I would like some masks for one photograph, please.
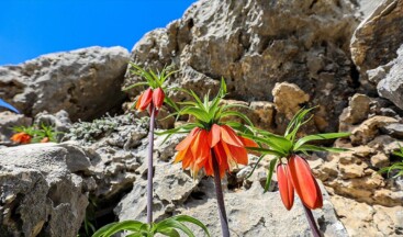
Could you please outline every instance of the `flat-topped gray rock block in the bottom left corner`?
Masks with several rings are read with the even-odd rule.
[[[0,149],[0,236],[76,237],[89,185],[77,172],[91,165],[71,144]]]

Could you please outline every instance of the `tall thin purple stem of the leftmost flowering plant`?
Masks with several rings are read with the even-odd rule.
[[[147,169],[147,223],[153,223],[153,149],[154,149],[154,124],[155,124],[155,108],[149,104],[152,111],[149,119],[149,134],[148,134],[148,169]]]

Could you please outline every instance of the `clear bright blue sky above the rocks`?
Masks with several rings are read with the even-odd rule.
[[[195,0],[0,0],[0,65],[94,45],[132,49]]]

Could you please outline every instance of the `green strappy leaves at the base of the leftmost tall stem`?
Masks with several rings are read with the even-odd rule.
[[[178,230],[183,232],[189,237],[195,237],[192,230],[183,223],[191,223],[201,227],[210,237],[208,228],[200,221],[187,216],[177,215],[159,223],[145,224],[137,221],[123,221],[119,223],[111,223],[100,228],[92,237],[109,237],[120,232],[128,232],[126,237],[154,237],[156,234],[161,234],[169,237],[180,237]]]

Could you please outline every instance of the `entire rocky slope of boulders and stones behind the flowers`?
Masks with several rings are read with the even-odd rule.
[[[403,179],[377,172],[398,161],[392,153],[403,145],[402,25],[402,0],[200,0],[131,54],[91,47],[0,67],[0,98],[24,114],[0,112],[0,236],[72,237],[85,218],[145,219],[148,121],[130,109],[138,91],[121,91],[139,80],[128,60],[175,64],[170,82],[200,94],[224,77],[225,103],[246,105],[240,112],[275,133],[302,106],[318,105],[304,133],[351,132],[333,144],[349,151],[309,157],[325,193],[314,212],[321,230],[403,235]],[[33,122],[53,124],[64,142],[13,147],[10,127]],[[155,217],[197,216],[220,236],[212,180],[172,165],[181,138],[155,139]],[[245,180],[257,158],[249,160],[223,183],[233,235],[309,236],[299,201],[287,212],[276,182],[262,192],[267,162]]]

